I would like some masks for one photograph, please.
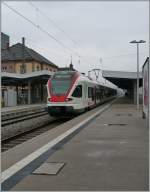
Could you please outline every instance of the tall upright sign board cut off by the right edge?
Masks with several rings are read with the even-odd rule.
[[[148,118],[149,109],[149,59],[143,65],[143,118]]]

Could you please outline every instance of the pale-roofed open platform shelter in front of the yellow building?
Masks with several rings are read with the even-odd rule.
[[[46,84],[52,75],[53,72],[48,70],[27,74],[2,72],[2,107],[46,102]]]

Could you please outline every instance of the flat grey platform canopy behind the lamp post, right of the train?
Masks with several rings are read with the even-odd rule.
[[[126,71],[108,71],[104,70],[102,72],[104,78],[114,83],[121,89],[132,89],[133,84],[137,80],[136,72],[126,72]],[[139,73],[139,82],[142,86],[142,72]]]

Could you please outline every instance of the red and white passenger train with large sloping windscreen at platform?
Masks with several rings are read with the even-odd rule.
[[[117,94],[117,90],[77,72],[58,71],[47,82],[47,107],[51,116],[82,113]]]

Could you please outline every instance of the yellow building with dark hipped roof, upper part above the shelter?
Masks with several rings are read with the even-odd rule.
[[[6,35],[7,36],[7,35]],[[3,47],[1,52],[1,71],[9,73],[31,73],[40,70],[57,71],[58,66],[25,46],[24,38],[22,43],[9,46],[9,41],[5,35],[2,36]],[[4,43],[5,42],[5,43]],[[7,44],[7,46],[6,46]]]

